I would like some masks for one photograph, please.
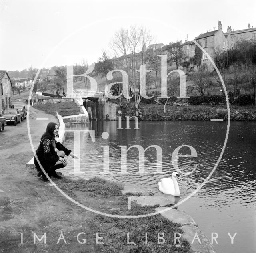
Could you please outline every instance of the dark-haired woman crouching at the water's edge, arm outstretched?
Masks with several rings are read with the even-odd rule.
[[[46,132],[42,135],[38,149],[36,150],[36,156],[44,168],[45,172],[49,177],[61,178],[55,170],[64,168],[67,165],[67,160],[64,158],[65,155],[75,157],[71,150],[65,148],[60,142],[55,140],[58,137],[59,126],[54,122],[48,123]],[[59,151],[55,151],[57,148]],[[44,181],[47,181],[47,177],[42,172],[40,165],[34,157],[34,164],[38,171],[38,177],[42,176]]]

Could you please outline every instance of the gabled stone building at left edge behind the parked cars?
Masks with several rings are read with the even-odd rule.
[[[11,107],[12,81],[6,70],[0,70],[0,112]]]

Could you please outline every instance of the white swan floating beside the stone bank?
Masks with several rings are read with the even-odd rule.
[[[161,182],[158,183],[160,192],[171,194],[173,196],[180,196],[180,188],[177,182],[177,177],[179,176],[178,172],[173,172],[172,178],[163,178]]]

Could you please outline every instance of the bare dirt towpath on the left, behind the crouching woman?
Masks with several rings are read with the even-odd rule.
[[[36,118],[48,118],[41,120]],[[30,130],[35,149],[48,122],[56,117],[30,107]],[[27,122],[8,125],[0,133],[0,252],[97,252],[92,213],[62,196],[48,182],[25,165],[34,156],[28,138]],[[54,179],[58,184],[58,180]],[[86,244],[77,241],[86,233]],[[34,244],[34,233],[44,239]],[[63,233],[63,239],[58,239]],[[23,238],[22,238],[23,237]],[[81,239],[82,241],[82,236]]]

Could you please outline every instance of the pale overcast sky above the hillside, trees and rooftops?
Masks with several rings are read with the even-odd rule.
[[[152,43],[192,40],[208,30],[256,26],[256,1],[0,0],[0,69],[96,62],[120,28],[145,26]],[[215,27],[215,29],[214,29]]]

